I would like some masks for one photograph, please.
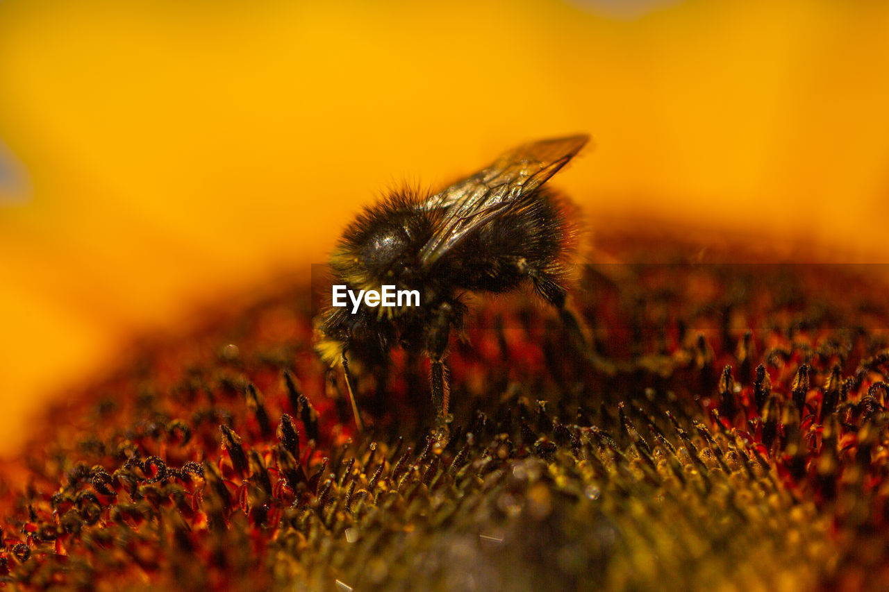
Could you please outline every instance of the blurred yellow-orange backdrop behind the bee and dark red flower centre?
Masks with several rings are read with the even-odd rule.
[[[555,181],[885,258],[889,4],[0,2],[0,452],[403,180],[590,132]],[[301,267],[300,267],[301,266]]]

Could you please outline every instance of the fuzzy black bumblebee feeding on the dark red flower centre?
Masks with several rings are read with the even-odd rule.
[[[347,226],[330,258],[340,287],[420,292],[419,306],[377,307],[365,300],[316,316],[316,351],[332,367],[342,365],[359,430],[349,359],[384,372],[389,351],[401,347],[428,356],[437,428],[446,431],[445,359],[450,336],[463,330],[467,292],[531,284],[556,308],[573,340],[587,347],[565,289],[575,235],[570,203],[543,184],[588,141],[576,135],[525,144],[435,195],[395,192]]]

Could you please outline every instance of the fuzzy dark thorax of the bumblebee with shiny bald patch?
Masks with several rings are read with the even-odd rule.
[[[420,280],[419,254],[435,223],[416,193],[400,192],[358,215],[333,252],[333,271],[348,284],[379,290],[381,284],[407,287]]]

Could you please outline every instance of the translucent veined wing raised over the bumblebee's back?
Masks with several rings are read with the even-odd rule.
[[[426,207],[445,213],[435,235],[420,251],[423,265],[430,267],[477,228],[520,204],[523,196],[549,180],[588,141],[589,136],[578,135],[525,144],[430,197]]]

